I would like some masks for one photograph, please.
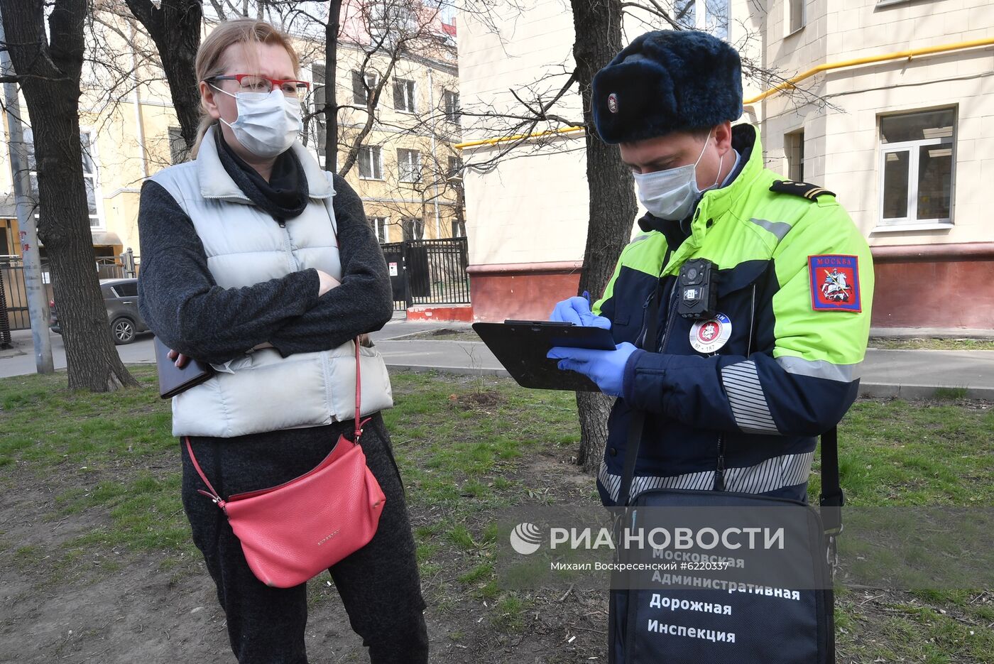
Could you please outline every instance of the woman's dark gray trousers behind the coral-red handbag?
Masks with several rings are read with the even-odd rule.
[[[323,459],[352,421],[252,433],[235,438],[190,436],[194,454],[218,493],[228,496],[281,484]],[[351,437],[351,436],[349,436]],[[183,507],[193,541],[204,554],[228,618],[240,664],[305,664],[306,584],[269,587],[255,579],[242,545],[224,513],[197,489],[206,489],[184,438]],[[329,569],[373,664],[427,662],[428,641],[414,558],[414,538],[390,436],[377,414],[360,444],[387,497],[380,525],[368,545]],[[191,653],[192,654],[192,653]]]

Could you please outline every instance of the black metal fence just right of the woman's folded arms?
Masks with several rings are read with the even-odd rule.
[[[414,240],[380,247],[390,268],[395,311],[414,304],[469,303],[465,238]]]

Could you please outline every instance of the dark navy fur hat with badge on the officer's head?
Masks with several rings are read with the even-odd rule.
[[[591,103],[605,143],[735,121],[743,114],[739,53],[696,30],[645,33],[593,77]]]

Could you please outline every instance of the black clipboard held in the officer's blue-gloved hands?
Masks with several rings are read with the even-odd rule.
[[[506,320],[503,323],[473,323],[473,330],[523,388],[600,392],[590,379],[575,371],[563,371],[558,360],[546,357],[554,346],[614,350],[610,330],[550,320]]]

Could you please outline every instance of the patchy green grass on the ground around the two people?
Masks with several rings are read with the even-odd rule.
[[[130,369],[142,387],[104,395],[66,390],[64,372],[0,380],[0,488],[39,486],[53,496],[44,518],[91,524],[54,551],[4,540],[0,564],[80,581],[94,568],[120,574],[128,555],[154,553],[164,570],[199,560],[179,499],[169,403],[157,397],[154,367]],[[574,396],[489,378],[392,379],[397,407],[384,416],[416,517],[427,601],[451,615],[459,610],[454,596],[469,595],[492,608],[490,628],[524,630],[532,599],[503,589],[495,575],[493,516],[522,502],[563,500],[554,479],[525,468],[537,455],[576,453]],[[994,409],[957,401],[954,391],[945,396],[951,401],[854,405],[839,428],[850,505],[994,506]],[[589,485],[592,493],[592,478]],[[815,474],[812,497],[817,485]],[[312,603],[334,595],[313,585]],[[874,598],[843,589],[836,615],[847,661],[989,662],[994,652],[989,592]]]

